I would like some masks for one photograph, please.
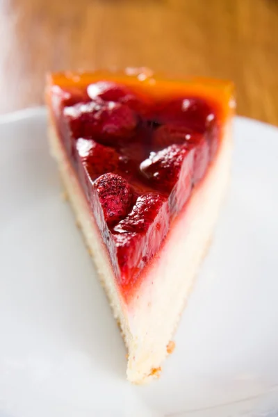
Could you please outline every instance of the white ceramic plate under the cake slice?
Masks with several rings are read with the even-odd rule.
[[[125,349],[43,108],[0,119],[1,417],[278,415],[278,129],[238,117],[231,188],[160,380]],[[2,414],[1,414],[2,413]]]

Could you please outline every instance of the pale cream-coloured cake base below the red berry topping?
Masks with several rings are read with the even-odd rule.
[[[218,155],[204,181],[194,190],[186,209],[172,224],[162,250],[148,268],[138,293],[128,304],[117,289],[106,248],[55,129],[51,128],[49,136],[51,153],[58,162],[76,221],[122,329],[129,352],[127,378],[137,384],[149,382],[159,375],[161,363],[167,356],[167,345],[213,234],[229,180],[230,126],[227,125]]]

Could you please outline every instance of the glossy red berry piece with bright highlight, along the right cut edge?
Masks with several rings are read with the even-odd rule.
[[[189,158],[193,163],[193,155],[184,145],[170,145],[159,152],[151,152],[149,158],[140,164],[140,170],[156,188],[171,193],[179,179],[183,161]]]

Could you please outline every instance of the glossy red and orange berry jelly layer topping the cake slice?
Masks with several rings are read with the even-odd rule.
[[[217,152],[221,109],[101,79],[51,85],[51,107],[124,296]]]

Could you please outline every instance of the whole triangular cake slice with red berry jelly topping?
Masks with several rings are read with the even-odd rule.
[[[149,70],[51,74],[49,138],[129,352],[157,377],[213,234],[231,163],[231,83]]]

